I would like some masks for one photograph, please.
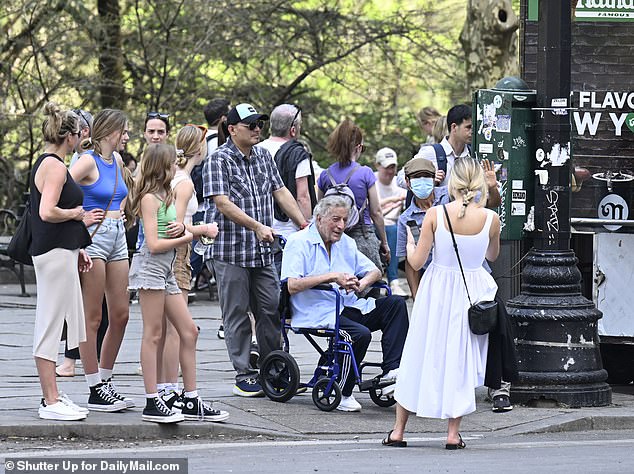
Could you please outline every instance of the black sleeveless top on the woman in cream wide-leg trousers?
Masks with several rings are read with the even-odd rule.
[[[82,221],[69,220],[64,222],[44,222],[40,218],[40,201],[42,194],[35,186],[35,173],[47,157],[64,162],[59,156],[52,153],[41,155],[31,171],[31,233],[32,241],[29,253],[33,256],[42,255],[49,250],[62,248],[75,250],[85,248],[91,244],[90,235]],[[75,183],[72,176],[66,171],[66,182],[62,187],[57,206],[62,209],[73,209],[81,206],[84,201],[84,193]]]

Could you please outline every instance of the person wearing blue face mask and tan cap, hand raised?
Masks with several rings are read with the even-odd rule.
[[[414,229],[412,230],[415,234],[416,230],[420,229],[429,208],[449,202],[447,187],[434,187],[436,168],[431,161],[414,158],[405,163],[404,173],[405,184],[414,194],[414,198],[409,207],[398,218],[396,235],[397,257],[407,257],[407,226],[413,227]],[[405,277],[413,298],[416,297],[421,276],[430,261],[431,254],[428,261],[423,265],[422,270],[416,271],[407,262],[407,259],[405,260]]]

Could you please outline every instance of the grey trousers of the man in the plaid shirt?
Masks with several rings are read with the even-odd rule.
[[[278,313],[280,282],[273,265],[244,268],[215,259],[213,267],[225,328],[225,344],[229,359],[237,372],[236,382],[241,382],[258,374],[249,364],[249,308],[255,317],[260,360],[271,351],[281,348]]]

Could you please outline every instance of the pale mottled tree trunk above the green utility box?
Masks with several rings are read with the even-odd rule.
[[[519,20],[511,0],[469,0],[460,43],[465,53],[467,87],[493,87],[505,76],[519,74]]]

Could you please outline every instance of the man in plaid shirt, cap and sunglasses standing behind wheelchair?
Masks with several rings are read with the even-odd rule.
[[[219,229],[205,258],[213,260],[225,343],[237,372],[233,393],[244,397],[264,394],[258,372],[249,364],[249,308],[255,315],[260,357],[280,348],[280,287],[271,249],[273,199],[299,227],[308,225],[270,153],[255,146],[268,118],[250,104],[231,109],[223,124],[227,142],[203,168],[205,222],[217,222]]]

